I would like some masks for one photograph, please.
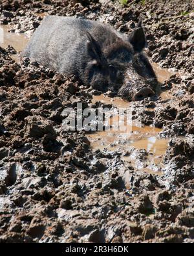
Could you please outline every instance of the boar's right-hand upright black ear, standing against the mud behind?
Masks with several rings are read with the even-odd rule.
[[[135,30],[129,35],[129,42],[133,45],[135,51],[142,51],[146,47],[146,35],[142,28],[142,21],[138,22]]]

